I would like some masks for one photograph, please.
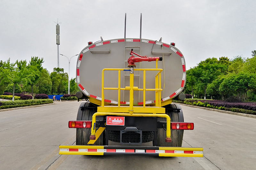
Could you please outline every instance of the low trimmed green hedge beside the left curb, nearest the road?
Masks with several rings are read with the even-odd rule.
[[[53,103],[52,99],[35,99],[35,100],[17,100],[17,101],[3,101],[3,106],[0,109],[14,108],[14,107],[24,107],[33,105],[42,105]]]

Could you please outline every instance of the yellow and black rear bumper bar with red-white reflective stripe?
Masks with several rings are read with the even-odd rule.
[[[60,155],[148,155],[166,157],[203,157],[203,148],[158,146],[60,145]]]

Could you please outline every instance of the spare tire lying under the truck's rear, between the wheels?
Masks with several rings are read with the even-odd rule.
[[[150,142],[154,138],[153,131],[142,131],[142,143]],[[108,140],[113,142],[120,142],[120,131],[108,131]],[[122,135],[122,142],[124,143],[139,143],[140,134],[135,132],[127,132]]]

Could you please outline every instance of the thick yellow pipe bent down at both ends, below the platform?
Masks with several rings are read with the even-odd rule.
[[[96,112],[92,115],[92,131],[91,136],[95,136],[94,124],[96,124],[96,116],[129,116],[129,117],[164,117],[166,118],[166,138],[171,139],[171,119],[166,114],[149,114],[149,113],[107,113],[107,112]]]

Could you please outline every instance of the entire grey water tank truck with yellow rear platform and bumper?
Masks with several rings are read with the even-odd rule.
[[[156,155],[203,157],[203,148],[181,147],[184,122],[179,104],[186,83],[183,54],[175,43],[141,38],[88,42],[77,58],[76,93],[82,102],[76,121],[76,145],[60,145],[60,154]],[[145,146],[147,143],[148,146]]]

